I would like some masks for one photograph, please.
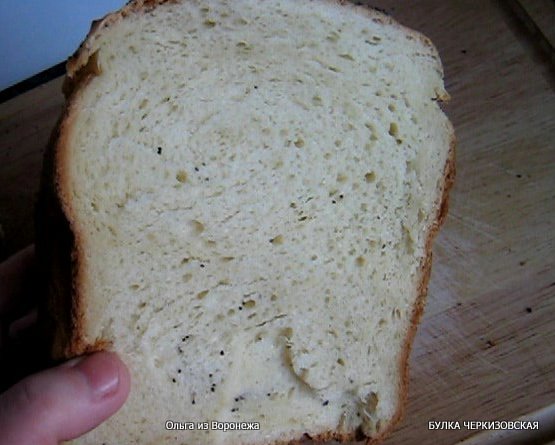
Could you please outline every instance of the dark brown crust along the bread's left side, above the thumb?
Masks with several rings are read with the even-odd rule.
[[[60,166],[67,139],[67,127],[72,125],[73,100],[69,98],[48,144],[43,164],[41,190],[37,203],[37,257],[48,299],[42,302],[41,323],[49,339],[55,360],[65,359],[103,349],[107,343],[87,344],[82,335],[83,314],[79,297],[78,264],[80,242],[78,232],[71,226],[64,201],[68,202],[60,183]]]

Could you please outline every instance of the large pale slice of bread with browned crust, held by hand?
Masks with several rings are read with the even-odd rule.
[[[133,385],[76,443],[392,429],[454,174],[442,76],[427,38],[346,2],[144,0],[94,24],[39,250],[55,356],[117,351]]]

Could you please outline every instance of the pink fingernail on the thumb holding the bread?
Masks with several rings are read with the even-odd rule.
[[[83,373],[96,400],[109,397],[117,391],[119,366],[112,353],[99,352],[90,355],[77,361],[72,367]]]

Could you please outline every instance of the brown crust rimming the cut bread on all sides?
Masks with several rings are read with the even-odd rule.
[[[108,28],[116,26],[130,14],[146,14],[166,3],[180,3],[177,0],[134,0],[120,11],[107,15],[93,23],[91,30],[77,52],[68,60],[67,77],[64,84],[66,107],[53,133],[51,144],[45,158],[45,174],[43,178],[42,195],[39,203],[41,225],[38,232],[38,253],[49,280],[50,300],[45,318],[48,321],[52,335],[52,354],[57,359],[71,358],[77,355],[97,350],[111,348],[111,340],[99,338],[91,342],[85,332],[86,313],[83,306],[83,283],[87,275],[87,254],[84,251],[81,227],[74,208],[72,186],[70,184],[70,169],[68,167],[71,144],[69,134],[74,126],[74,119],[78,112],[79,100],[82,92],[91,80],[102,73],[96,56],[95,41],[103,36]],[[399,32],[422,42],[433,54],[437,62],[436,69],[442,72],[437,51],[431,41],[418,32],[399,25],[390,17],[362,6],[356,6],[347,1],[321,0],[314,2],[340,5],[352,8],[359,14],[364,14],[369,20],[395,27]],[[437,101],[445,102],[449,99],[444,90],[436,91]],[[326,433],[308,435],[298,440],[274,440],[273,444],[293,444],[312,439],[316,442],[330,440],[349,441],[366,440],[367,444],[379,443],[388,435],[402,416],[407,397],[408,387],[408,358],[417,325],[421,318],[432,262],[432,242],[447,214],[448,195],[455,177],[455,136],[452,127],[449,135],[450,143],[447,160],[443,170],[443,180],[438,199],[434,204],[435,216],[427,227],[425,251],[420,261],[421,280],[418,286],[418,297],[415,300],[410,318],[410,328],[405,337],[403,352],[400,355],[399,378],[400,391],[397,409],[390,422],[382,427],[377,435],[366,437],[361,430],[338,432],[330,430]]]

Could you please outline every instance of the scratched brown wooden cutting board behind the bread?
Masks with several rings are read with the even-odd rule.
[[[386,443],[454,444],[480,432],[465,428],[465,420],[513,420],[540,409],[540,433],[550,436],[554,3],[371,3],[436,44],[452,96],[445,108],[458,139],[456,185],[434,248],[428,304],[410,360],[408,406]],[[0,104],[4,256],[32,241],[41,156],[60,112],[60,85],[56,79]],[[459,421],[461,429],[428,428],[430,421],[442,420]],[[494,443],[487,434],[472,440]],[[503,443],[522,443],[512,440]]]

